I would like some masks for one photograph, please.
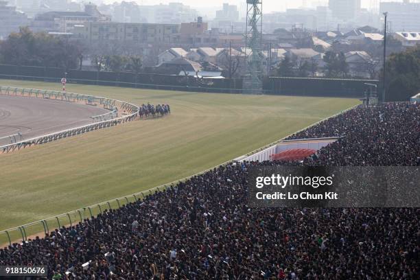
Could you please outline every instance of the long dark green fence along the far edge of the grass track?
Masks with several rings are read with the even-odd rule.
[[[0,65],[0,78],[60,82],[65,73],[60,68]],[[140,89],[165,89],[208,93],[242,93],[242,79],[198,79],[190,76],[154,73],[116,73],[68,70],[67,82],[124,86]],[[264,94],[326,97],[363,97],[369,84],[377,80],[265,77]]]

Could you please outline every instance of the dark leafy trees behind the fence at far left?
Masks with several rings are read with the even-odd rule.
[[[21,27],[19,32],[0,41],[1,64],[80,70],[83,59],[91,56],[92,66],[97,71],[140,73],[143,66],[141,56],[121,55],[118,52],[110,44],[86,45],[80,40],[32,32],[28,27]]]

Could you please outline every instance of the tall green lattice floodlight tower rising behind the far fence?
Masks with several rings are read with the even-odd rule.
[[[245,56],[248,75],[244,78],[245,92],[262,93],[261,75],[262,0],[246,0]]]

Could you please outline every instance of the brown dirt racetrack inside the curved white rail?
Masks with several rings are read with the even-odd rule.
[[[91,116],[108,112],[99,106],[74,102],[0,95],[0,145],[10,143],[10,135],[21,133],[22,140],[30,139],[91,124]]]

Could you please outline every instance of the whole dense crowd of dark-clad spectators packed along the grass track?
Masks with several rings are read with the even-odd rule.
[[[342,136],[307,164],[415,165],[419,115],[359,107],[293,138]],[[45,264],[55,279],[418,279],[420,209],[250,209],[248,168],[272,164],[218,167],[4,248],[0,265]]]

